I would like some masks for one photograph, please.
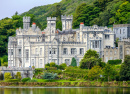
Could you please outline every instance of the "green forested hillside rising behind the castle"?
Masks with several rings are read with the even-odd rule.
[[[73,28],[78,28],[80,22],[85,25],[97,24],[111,26],[113,24],[130,23],[129,0],[62,0],[59,3],[34,7],[28,12],[12,18],[0,20],[0,56],[7,55],[8,37],[15,35],[15,30],[22,27],[22,17],[30,16],[32,22],[43,30],[46,27],[46,18],[57,17],[57,28],[61,29],[61,15],[73,15]]]

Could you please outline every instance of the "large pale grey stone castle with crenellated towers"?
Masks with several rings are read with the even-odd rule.
[[[61,21],[62,31],[56,29],[56,17],[47,17],[47,27],[41,31],[35,23],[30,27],[30,17],[23,17],[23,29],[9,37],[8,66],[44,68],[50,62],[69,66],[73,57],[79,66],[87,50],[96,50],[102,58],[104,48],[115,47],[115,34],[107,27],[81,23],[72,29],[73,16],[66,15]]]

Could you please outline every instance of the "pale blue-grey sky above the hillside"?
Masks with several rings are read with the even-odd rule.
[[[36,6],[53,4],[61,0],[0,0],[0,20],[13,16],[17,11],[18,14],[29,11]]]

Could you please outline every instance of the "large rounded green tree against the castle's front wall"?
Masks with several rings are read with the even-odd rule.
[[[99,62],[101,62],[99,54],[95,50],[89,49],[80,61],[80,68],[91,69],[94,65],[98,65]]]

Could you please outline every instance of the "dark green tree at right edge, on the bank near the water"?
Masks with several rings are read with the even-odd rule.
[[[130,80],[130,55],[126,55],[120,68],[120,80]]]

